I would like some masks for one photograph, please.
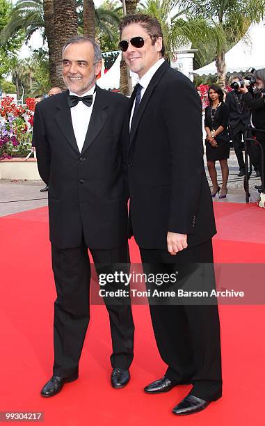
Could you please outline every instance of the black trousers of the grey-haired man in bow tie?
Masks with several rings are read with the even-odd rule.
[[[91,248],[90,253],[97,273],[100,265],[103,265],[104,272],[129,269],[127,244],[106,250]],[[90,319],[90,260],[85,244],[63,249],[52,245],[51,254],[57,292],[54,303],[54,374],[67,377],[78,372],[83,340]],[[115,283],[104,288],[116,290]],[[113,345],[111,365],[113,368],[127,369],[134,356],[131,305],[106,304],[106,308],[109,312]]]

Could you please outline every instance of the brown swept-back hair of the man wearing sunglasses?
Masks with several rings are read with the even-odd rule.
[[[163,33],[158,19],[145,15],[143,13],[136,13],[135,15],[126,15],[120,21],[120,33],[125,29],[125,26],[130,24],[139,24],[145,29],[147,34],[151,37],[152,45],[156,42],[156,38],[162,38],[161,56],[165,56],[165,45],[163,44]]]

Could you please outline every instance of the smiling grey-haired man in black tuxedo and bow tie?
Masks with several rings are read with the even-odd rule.
[[[56,395],[78,378],[89,312],[90,261],[97,272],[127,270],[127,191],[122,127],[127,98],[99,88],[97,44],[75,37],[63,47],[68,90],[36,106],[33,140],[41,178],[49,184],[49,230],[57,299],[54,303],[54,369],[41,390]],[[118,265],[116,265],[118,264]],[[124,265],[122,265],[124,264]],[[115,290],[120,283],[110,283]],[[117,304],[115,304],[117,302]],[[106,301],[113,353],[111,384],[129,381],[134,322],[130,303]]]

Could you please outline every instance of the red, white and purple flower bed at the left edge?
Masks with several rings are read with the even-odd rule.
[[[35,100],[17,105],[13,97],[3,97],[0,103],[0,159],[26,157],[31,151]]]

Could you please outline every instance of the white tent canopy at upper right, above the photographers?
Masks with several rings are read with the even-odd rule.
[[[255,68],[256,70],[265,68],[264,23],[250,26],[248,36],[250,42],[246,43],[242,39],[225,54],[227,72],[246,71],[248,68]],[[216,64],[215,62],[209,63],[193,72],[199,75],[216,74]]]

